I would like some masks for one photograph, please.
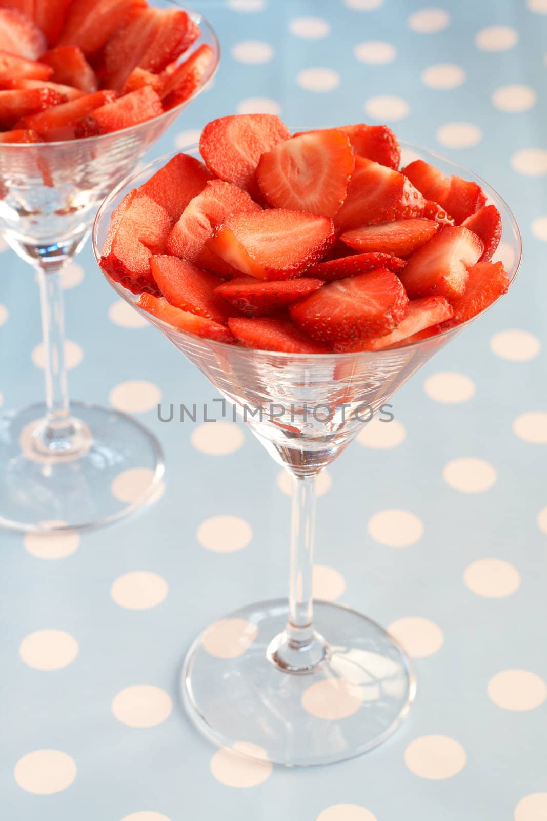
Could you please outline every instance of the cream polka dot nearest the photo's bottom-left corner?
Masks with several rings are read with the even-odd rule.
[[[13,774],[21,790],[35,796],[52,796],[71,786],[76,765],[61,750],[33,750],[19,759]]]

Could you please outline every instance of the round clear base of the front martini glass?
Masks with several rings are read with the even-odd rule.
[[[374,621],[319,601],[315,626],[326,657],[312,672],[285,672],[267,649],[287,613],[285,599],[252,604],[198,636],[181,681],[194,724],[217,745],[288,766],[331,764],[381,744],[416,695],[403,649]]]

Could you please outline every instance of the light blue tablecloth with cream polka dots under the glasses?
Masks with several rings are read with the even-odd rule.
[[[238,424],[157,420],[158,401],[215,393],[116,299],[88,245],[65,273],[71,394],[147,424],[165,487],[104,530],[0,534],[2,819],[545,821],[547,2],[200,11],[221,69],[154,156],[232,112],[280,112],[294,129],[387,122],[488,179],[522,228],[508,296],[321,476],[315,593],[390,626],[417,701],[384,745],[317,769],[253,763],[194,732],[177,687],[194,635],[285,592],[287,477]],[[32,274],[5,248],[2,268],[7,408],[39,399],[43,374]]]

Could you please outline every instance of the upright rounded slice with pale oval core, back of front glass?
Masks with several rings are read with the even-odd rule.
[[[354,163],[348,137],[331,128],[277,144],[262,154],[256,177],[274,208],[334,217],[344,202]]]

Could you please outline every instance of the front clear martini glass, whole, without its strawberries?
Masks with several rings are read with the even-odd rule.
[[[479,182],[502,215],[513,280],[522,248],[508,205],[472,172],[409,147],[441,171]],[[134,174],[103,203],[93,227],[98,261],[116,205],[167,159]],[[130,291],[108,281],[135,305]],[[371,750],[403,722],[416,681],[383,627],[343,605],[312,601],[316,479],[370,420],[370,409],[379,410],[472,320],[392,350],[303,355],[212,342],[140,313],[238,408],[293,479],[288,599],[242,607],[198,635],[180,680],[189,717],[218,745],[278,764],[328,764]]]

